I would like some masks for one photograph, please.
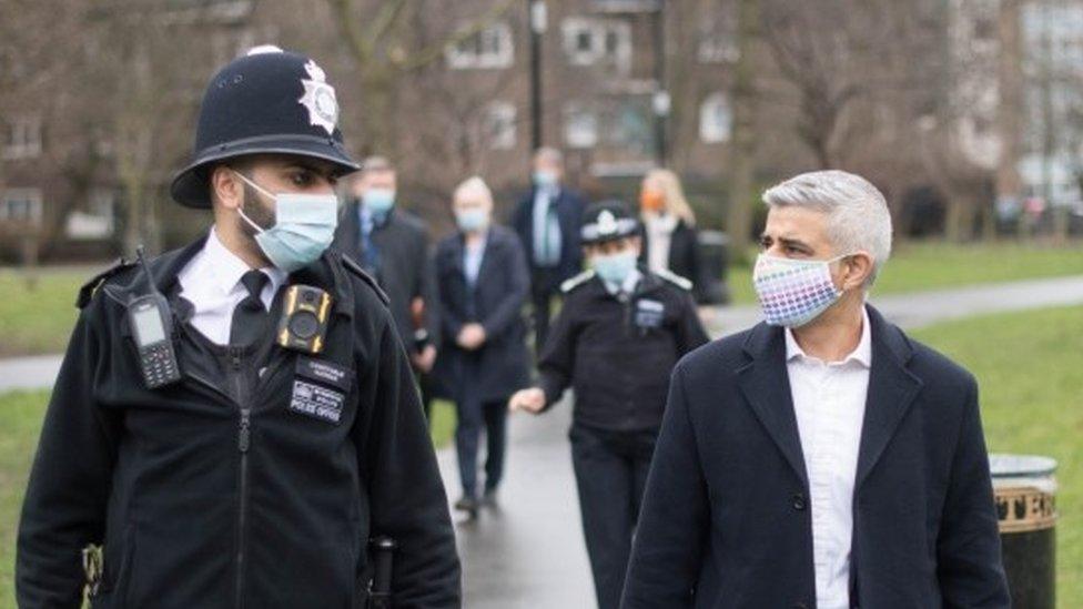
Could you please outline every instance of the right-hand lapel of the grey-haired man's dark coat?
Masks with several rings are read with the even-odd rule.
[[[905,367],[913,355],[913,347],[902,331],[888,324],[873,307],[868,308],[872,331],[872,369],[869,372],[869,395],[861,427],[854,488],[859,488],[875,467],[922,386],[921,379]]]

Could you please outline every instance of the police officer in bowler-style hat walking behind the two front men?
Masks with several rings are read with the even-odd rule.
[[[538,362],[539,386],[509,402],[512,410],[540,413],[575,389],[571,457],[600,609],[620,602],[669,374],[707,342],[691,283],[637,267],[638,234],[624,203],[587,207],[581,237],[593,268],[561,286],[564,308]]]

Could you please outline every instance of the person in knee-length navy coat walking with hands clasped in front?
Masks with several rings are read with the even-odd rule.
[[[493,505],[504,474],[507,399],[528,382],[526,326],[520,311],[529,290],[515,233],[492,224],[493,195],[480,177],[455,191],[458,232],[436,248],[443,344],[436,361],[442,395],[455,402],[463,497],[457,509],[478,508],[477,455],[487,437],[482,504]]]

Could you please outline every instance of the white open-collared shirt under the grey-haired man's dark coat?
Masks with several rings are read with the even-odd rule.
[[[809,475],[812,561],[820,609],[850,607],[853,486],[869,394],[872,337],[863,312],[861,339],[841,362],[806,355],[786,329],[786,369]]]

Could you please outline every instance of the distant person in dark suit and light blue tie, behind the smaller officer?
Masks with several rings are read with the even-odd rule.
[[[553,300],[560,284],[583,271],[579,222],[586,203],[564,184],[560,151],[542,148],[534,154],[533,185],[512,214],[530,267],[534,348],[540,353],[549,332]]]

